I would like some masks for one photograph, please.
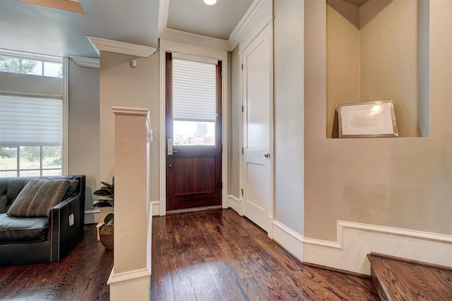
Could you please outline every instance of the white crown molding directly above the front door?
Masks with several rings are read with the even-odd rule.
[[[229,42],[225,39],[196,35],[191,32],[183,32],[180,30],[173,30],[171,28],[165,28],[165,30],[162,31],[160,38],[224,51],[229,51],[230,49]]]

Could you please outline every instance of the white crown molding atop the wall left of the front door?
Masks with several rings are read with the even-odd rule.
[[[155,47],[115,41],[114,39],[104,39],[102,37],[91,37],[89,35],[86,37],[88,37],[88,40],[93,44],[93,47],[99,56],[100,51],[108,51],[116,54],[127,54],[130,56],[148,58],[157,51]]]

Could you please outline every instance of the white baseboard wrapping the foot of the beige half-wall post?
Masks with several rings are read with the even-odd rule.
[[[148,269],[114,274],[113,267],[107,284],[110,285],[110,300],[112,301],[149,301],[150,272]]]

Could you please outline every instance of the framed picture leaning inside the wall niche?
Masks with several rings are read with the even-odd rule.
[[[398,137],[392,100],[338,104],[339,137]]]

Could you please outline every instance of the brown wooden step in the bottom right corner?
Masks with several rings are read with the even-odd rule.
[[[452,268],[371,252],[371,278],[380,299],[452,300]]]

